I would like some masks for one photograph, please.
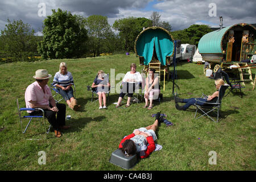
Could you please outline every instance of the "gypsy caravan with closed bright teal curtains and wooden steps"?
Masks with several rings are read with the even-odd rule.
[[[174,39],[170,32],[162,27],[148,27],[137,36],[134,51],[139,57],[139,63],[143,65],[143,73],[154,68],[159,74],[163,73],[163,89],[165,89],[166,74],[169,78],[168,65],[171,64],[171,56],[174,55]]]

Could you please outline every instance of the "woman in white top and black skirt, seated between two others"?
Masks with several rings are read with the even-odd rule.
[[[128,98],[127,98],[127,103],[126,103],[125,107],[129,107],[131,97],[133,97],[133,92],[134,92],[135,88],[137,88],[137,84],[142,82],[141,73],[136,72],[136,68],[137,68],[136,64],[132,63],[130,65],[130,68],[131,68],[131,71],[127,72],[125,77],[123,77],[123,80],[122,80],[123,87],[121,89],[121,93],[119,94],[117,106],[115,106],[116,108],[121,105],[122,99],[126,93],[128,93],[127,94]]]

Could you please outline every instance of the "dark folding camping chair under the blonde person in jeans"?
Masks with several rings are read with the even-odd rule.
[[[212,121],[214,122],[218,122],[218,117],[220,116],[220,111],[221,111],[221,101],[222,98],[224,97],[225,91],[226,89],[229,87],[228,84],[225,85],[221,85],[220,89],[218,90],[218,100],[216,103],[211,103],[211,102],[203,102],[204,105],[198,105],[198,102],[202,102],[196,99],[196,104],[194,104],[196,106],[196,113],[195,113],[195,117],[196,118],[196,114],[197,114],[197,110],[201,110],[203,111],[203,115],[201,115],[200,117],[197,117],[196,119],[199,119],[201,117],[203,117],[204,115],[207,115],[210,119],[212,119]],[[201,98],[207,97],[203,94],[203,96],[201,96]],[[217,109],[217,120],[215,121],[212,117],[210,117],[208,115],[208,113],[213,112],[215,109]]]

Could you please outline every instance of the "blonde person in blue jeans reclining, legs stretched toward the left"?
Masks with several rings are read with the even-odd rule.
[[[217,102],[218,100],[218,89],[220,89],[221,85],[224,85],[224,81],[222,79],[218,79],[218,80],[214,80],[214,85],[216,88],[216,92],[214,92],[211,96],[208,96],[208,98],[188,98],[188,99],[181,99],[177,96],[174,96],[175,99],[175,106],[177,110],[186,110],[188,109],[189,106],[197,104],[197,105],[204,105],[204,102],[210,102],[210,103],[214,103]],[[201,101],[201,102],[196,102],[197,101]],[[183,106],[179,106],[179,104],[177,104],[178,102],[181,103],[186,103]]]

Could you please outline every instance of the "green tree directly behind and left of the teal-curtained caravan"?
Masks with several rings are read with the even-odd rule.
[[[152,21],[147,18],[123,18],[115,20],[113,28],[119,31],[119,37],[122,40],[125,51],[134,51],[134,42],[143,28],[150,27]]]

